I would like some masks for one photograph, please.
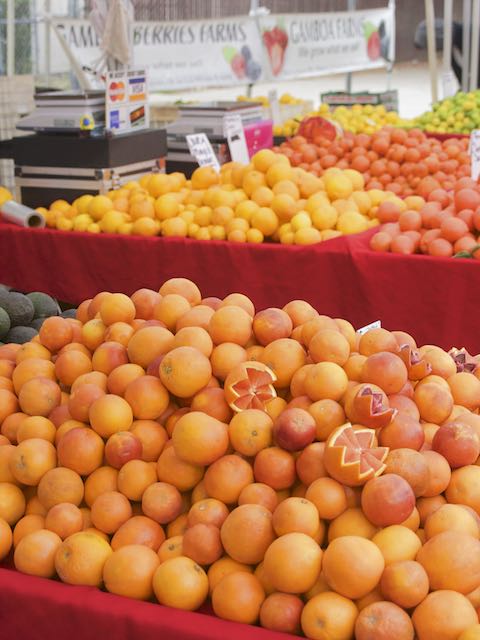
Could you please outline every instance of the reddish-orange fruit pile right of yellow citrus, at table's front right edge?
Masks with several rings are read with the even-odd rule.
[[[370,239],[373,251],[480,260],[480,187],[471,178],[434,189],[418,210],[383,202],[376,215],[384,224]]]

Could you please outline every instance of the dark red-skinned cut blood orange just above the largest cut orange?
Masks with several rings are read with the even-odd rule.
[[[371,429],[383,429],[397,415],[388,404],[388,398],[374,384],[354,387],[345,400],[345,413],[352,422],[359,422]]]

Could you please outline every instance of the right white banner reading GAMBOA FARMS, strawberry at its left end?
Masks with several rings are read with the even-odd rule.
[[[260,25],[274,78],[375,68],[394,56],[390,9],[262,16]]]

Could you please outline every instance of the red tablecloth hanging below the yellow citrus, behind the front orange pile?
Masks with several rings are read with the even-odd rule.
[[[0,282],[78,303],[102,290],[131,294],[184,276],[205,296],[237,291],[258,309],[303,298],[356,327],[380,319],[420,344],[479,353],[478,261],[373,253],[372,233],[299,247],[0,224]]]

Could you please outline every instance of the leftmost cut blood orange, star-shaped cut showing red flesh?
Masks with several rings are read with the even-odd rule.
[[[261,362],[242,362],[225,379],[225,399],[234,411],[260,409],[277,397],[273,383],[277,376]]]

